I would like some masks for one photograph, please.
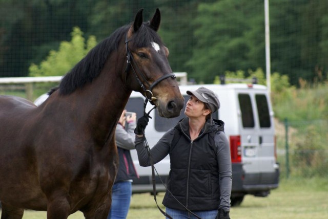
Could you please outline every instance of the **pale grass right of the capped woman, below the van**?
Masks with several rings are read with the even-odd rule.
[[[328,218],[327,180],[284,180],[266,198],[245,196],[231,218]]]

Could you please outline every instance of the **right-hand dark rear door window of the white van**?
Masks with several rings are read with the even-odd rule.
[[[267,96],[265,96],[264,94],[257,94],[255,95],[255,99],[256,99],[256,106],[257,106],[257,113],[260,120],[260,127],[270,128],[271,121],[270,121],[270,112],[269,112]]]

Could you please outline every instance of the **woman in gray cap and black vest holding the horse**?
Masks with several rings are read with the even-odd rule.
[[[202,219],[228,219],[232,186],[230,147],[224,122],[211,117],[220,108],[220,102],[206,87],[187,94],[187,117],[150,149],[154,164],[170,155],[170,192],[166,192],[162,204],[174,219],[197,218],[194,214]],[[147,116],[139,118],[134,131],[140,166],[151,165],[144,141],[148,121]]]

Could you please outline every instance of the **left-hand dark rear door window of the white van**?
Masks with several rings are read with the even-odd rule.
[[[254,128],[254,114],[251,97],[248,94],[238,94],[241,111],[242,126],[244,128]]]

